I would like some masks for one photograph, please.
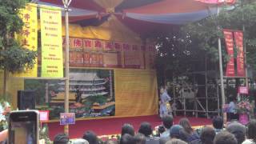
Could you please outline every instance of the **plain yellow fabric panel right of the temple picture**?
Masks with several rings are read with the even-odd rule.
[[[115,115],[158,114],[155,70],[114,70]]]

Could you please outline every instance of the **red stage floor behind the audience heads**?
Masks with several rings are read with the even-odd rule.
[[[177,124],[180,118],[183,117],[174,117],[174,124]],[[207,118],[189,117],[189,120],[192,126],[205,126],[211,124],[211,120]],[[150,122],[153,128],[162,124],[158,115],[78,120],[75,125],[70,125],[70,138],[82,138],[82,134],[86,130],[92,130],[98,136],[120,134],[121,127],[124,123],[132,124],[134,129],[138,131],[141,122]],[[50,122],[48,123],[48,126],[51,140],[53,140],[55,134],[62,133],[64,130],[63,126],[59,125],[59,122]]]

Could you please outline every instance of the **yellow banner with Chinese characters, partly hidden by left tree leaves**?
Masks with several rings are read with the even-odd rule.
[[[20,12],[24,23],[22,31],[17,34],[18,42],[28,50],[38,50],[38,12],[37,4],[29,3]],[[14,74],[15,77],[38,77],[38,61],[34,62],[32,69],[26,69],[22,73]]]

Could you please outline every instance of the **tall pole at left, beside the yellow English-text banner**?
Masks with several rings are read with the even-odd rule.
[[[64,108],[65,113],[69,112],[69,94],[70,94],[70,65],[69,65],[69,51],[70,51],[70,45],[69,45],[69,5],[71,0],[62,0],[64,9],[65,9],[65,26],[66,26],[66,50],[65,50],[65,102],[64,102]],[[64,126],[64,133],[69,135],[69,126]]]

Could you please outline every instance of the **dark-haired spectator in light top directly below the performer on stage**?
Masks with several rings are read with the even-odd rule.
[[[160,138],[169,138],[170,137],[170,127],[173,126],[174,118],[166,114],[162,116],[162,125],[165,127],[165,131],[160,135]]]

